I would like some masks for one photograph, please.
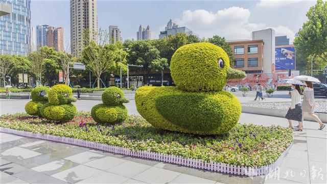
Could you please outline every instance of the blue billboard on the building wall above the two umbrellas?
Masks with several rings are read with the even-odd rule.
[[[275,48],[275,69],[295,70],[294,47]]]

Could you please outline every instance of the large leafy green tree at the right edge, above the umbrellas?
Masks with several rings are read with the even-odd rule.
[[[299,70],[306,70],[303,71],[305,73],[311,71],[309,57],[318,57],[327,62],[327,2],[318,0],[307,12],[307,17],[308,21],[303,24],[293,42],[296,66]],[[308,63],[310,68],[307,67]]]

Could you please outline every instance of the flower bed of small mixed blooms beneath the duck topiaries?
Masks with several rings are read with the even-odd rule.
[[[199,136],[156,129],[139,116],[121,125],[97,125],[88,112],[64,124],[25,113],[4,115],[0,127],[248,167],[273,164],[293,141],[292,130],[278,126],[238,124],[224,135]]]

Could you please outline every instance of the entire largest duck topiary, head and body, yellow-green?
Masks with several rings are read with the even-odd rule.
[[[150,124],[202,135],[226,133],[237,124],[241,104],[222,89],[227,78],[243,78],[244,74],[230,68],[223,49],[206,42],[184,45],[174,53],[170,68],[177,87],[136,90],[137,111]]]

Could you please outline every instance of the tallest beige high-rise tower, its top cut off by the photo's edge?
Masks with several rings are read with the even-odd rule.
[[[88,39],[96,39],[98,15],[96,0],[71,0],[71,53],[78,56],[82,52],[84,30],[89,31]]]

